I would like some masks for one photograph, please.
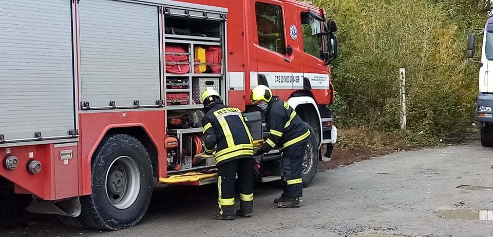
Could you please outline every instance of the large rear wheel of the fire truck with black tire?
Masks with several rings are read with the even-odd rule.
[[[149,206],[153,165],[135,137],[105,137],[92,159],[92,194],[81,197],[80,218],[91,228],[119,230],[134,226]]]

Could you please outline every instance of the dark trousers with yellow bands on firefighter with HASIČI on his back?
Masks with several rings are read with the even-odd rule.
[[[235,181],[238,173],[240,208],[245,213],[253,211],[254,159],[241,158],[228,161],[218,166],[217,190],[219,214],[234,215]]]

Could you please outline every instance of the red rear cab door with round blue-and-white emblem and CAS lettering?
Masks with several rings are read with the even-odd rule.
[[[296,57],[298,29],[295,19],[287,15],[291,6],[277,0],[251,1],[251,23],[254,48],[257,52],[258,74],[264,75],[274,94],[289,96],[293,81],[300,80],[293,72],[300,71],[301,58]],[[294,9],[296,10],[296,9]],[[292,14],[290,14],[292,15]],[[252,75],[252,73],[251,73]],[[251,78],[251,88],[257,85]]]

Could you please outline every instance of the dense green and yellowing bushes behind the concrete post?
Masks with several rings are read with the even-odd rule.
[[[397,131],[399,68],[406,68],[410,130],[460,140],[473,119],[478,66],[467,34],[484,27],[489,0],[314,0],[338,24],[332,65],[339,126]]]

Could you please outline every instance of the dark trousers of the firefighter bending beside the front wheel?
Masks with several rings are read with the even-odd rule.
[[[307,143],[304,141],[282,149],[282,168],[286,180],[282,196],[286,198],[300,198],[303,195],[301,171]]]

